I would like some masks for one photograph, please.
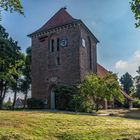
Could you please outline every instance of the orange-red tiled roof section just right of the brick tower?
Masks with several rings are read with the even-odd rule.
[[[101,78],[105,77],[108,74],[108,70],[106,70],[100,64],[97,64],[97,75]]]

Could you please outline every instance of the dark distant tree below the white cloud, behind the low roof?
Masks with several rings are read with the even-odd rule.
[[[128,72],[126,72],[124,75],[121,76],[120,82],[121,82],[121,85],[123,87],[123,90],[128,95],[130,95],[131,89],[133,87],[133,78],[132,78],[132,76]]]

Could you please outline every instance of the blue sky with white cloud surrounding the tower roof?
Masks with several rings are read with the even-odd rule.
[[[28,34],[44,25],[60,8],[81,19],[98,38],[98,63],[120,77],[125,72],[136,76],[140,65],[140,28],[129,0],[22,0],[24,16],[2,13],[1,24],[17,40],[24,52],[31,46]]]

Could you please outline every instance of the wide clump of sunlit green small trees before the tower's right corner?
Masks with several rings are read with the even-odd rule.
[[[80,93],[85,96],[85,99],[95,104],[96,111],[104,100],[113,100],[114,98],[123,101],[119,84],[116,75],[108,74],[104,79],[96,75],[88,75],[80,84]]]

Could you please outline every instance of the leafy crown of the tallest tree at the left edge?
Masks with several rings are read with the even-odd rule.
[[[20,47],[0,26],[0,80],[15,82],[17,69],[23,64]]]

